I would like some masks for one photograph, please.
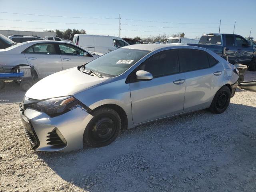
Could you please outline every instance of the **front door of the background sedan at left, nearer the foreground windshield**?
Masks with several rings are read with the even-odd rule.
[[[63,70],[84,65],[94,59],[91,54],[72,44],[58,43],[58,48]]]

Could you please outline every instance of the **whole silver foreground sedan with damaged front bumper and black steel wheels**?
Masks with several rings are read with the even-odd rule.
[[[206,108],[224,112],[238,78],[236,67],[204,48],[131,45],[40,80],[20,116],[37,151],[101,147],[121,129]]]

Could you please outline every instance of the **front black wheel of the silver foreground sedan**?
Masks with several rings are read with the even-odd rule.
[[[92,112],[92,120],[85,128],[85,146],[103,147],[116,139],[121,131],[121,118],[111,108],[100,108]]]

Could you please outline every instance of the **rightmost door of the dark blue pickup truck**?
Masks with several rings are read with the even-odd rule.
[[[237,52],[235,63],[247,64],[250,63],[253,54],[253,46],[248,43],[242,36],[235,35]]]

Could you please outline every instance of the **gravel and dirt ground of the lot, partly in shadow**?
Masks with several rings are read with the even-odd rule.
[[[31,150],[23,96],[12,82],[0,91],[0,192],[256,191],[256,92],[238,89],[223,114],[161,120],[69,153]]]

